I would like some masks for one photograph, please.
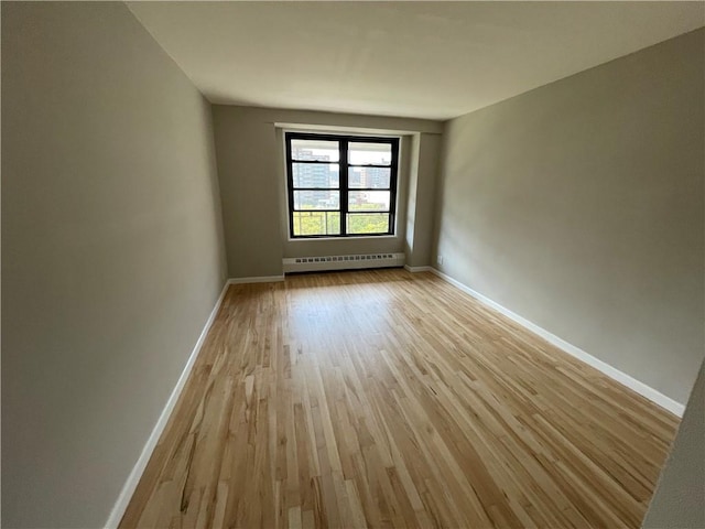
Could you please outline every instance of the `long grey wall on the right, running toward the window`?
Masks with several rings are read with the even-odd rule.
[[[682,403],[704,350],[704,35],[447,122],[433,252]]]

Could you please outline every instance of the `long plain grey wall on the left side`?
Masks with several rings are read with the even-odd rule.
[[[121,2],[2,3],[2,521],[102,527],[225,280],[210,108]]]

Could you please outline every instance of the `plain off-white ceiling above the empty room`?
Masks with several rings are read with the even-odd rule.
[[[703,2],[128,2],[212,102],[448,119],[705,25]]]

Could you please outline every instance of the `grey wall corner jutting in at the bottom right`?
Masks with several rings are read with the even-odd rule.
[[[705,363],[643,521],[646,529],[705,527]]]

